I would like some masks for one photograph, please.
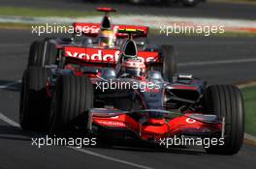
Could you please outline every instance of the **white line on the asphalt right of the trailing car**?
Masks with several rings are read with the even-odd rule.
[[[256,58],[251,59],[236,59],[236,60],[219,60],[219,61],[205,61],[205,62],[188,62],[177,64],[179,67],[187,66],[208,66],[208,65],[221,65],[221,64],[240,64],[246,62],[256,62]]]

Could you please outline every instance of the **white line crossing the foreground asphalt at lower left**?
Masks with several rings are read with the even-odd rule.
[[[13,121],[12,119],[8,118],[7,116],[5,116],[1,112],[0,112],[0,119],[2,121],[6,122],[7,124],[13,126],[13,127],[19,127],[19,124],[17,124],[15,121]],[[126,161],[126,160],[114,158],[114,157],[111,157],[109,155],[101,155],[101,154],[98,154],[98,153],[95,153],[95,152],[92,152],[92,151],[88,151],[88,150],[85,150],[85,149],[79,149],[79,148],[70,147],[70,146],[66,146],[66,148],[70,148],[72,150],[75,150],[77,152],[80,152],[80,153],[83,153],[83,154],[86,154],[86,155],[93,155],[93,156],[96,156],[96,157],[100,157],[100,158],[103,158],[103,159],[111,160],[113,162],[122,163],[122,164],[129,165],[129,166],[136,167],[136,168],[153,169],[153,168],[145,166],[145,165],[140,165],[140,164],[137,164],[137,163]]]

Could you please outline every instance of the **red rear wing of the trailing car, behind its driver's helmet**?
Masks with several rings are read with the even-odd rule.
[[[73,23],[75,34],[82,33],[84,36],[97,37],[101,30],[100,23]],[[118,33],[118,29],[137,29],[142,30],[143,34],[136,35],[134,38],[146,38],[149,32],[149,28],[146,26],[138,25],[112,25],[112,30],[115,32],[117,38],[127,38],[128,35],[124,33]]]

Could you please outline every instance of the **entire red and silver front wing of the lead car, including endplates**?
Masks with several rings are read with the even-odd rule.
[[[224,136],[225,119],[219,120],[215,115],[181,114],[166,110],[129,112],[94,108],[89,111],[88,129],[92,131],[94,125],[108,129],[130,130],[142,140],[157,142],[161,138],[175,135],[204,137],[219,133]]]

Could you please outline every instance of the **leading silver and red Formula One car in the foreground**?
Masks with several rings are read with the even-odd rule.
[[[65,51],[56,65],[28,67],[22,77],[20,126],[62,134],[77,128],[97,137],[153,143],[180,135],[223,138],[223,145],[210,145],[206,151],[237,154],[244,126],[240,90],[207,86],[191,74],[169,81],[139,58],[133,37],[143,31],[118,32],[128,38],[114,69],[109,62],[84,62]]]

